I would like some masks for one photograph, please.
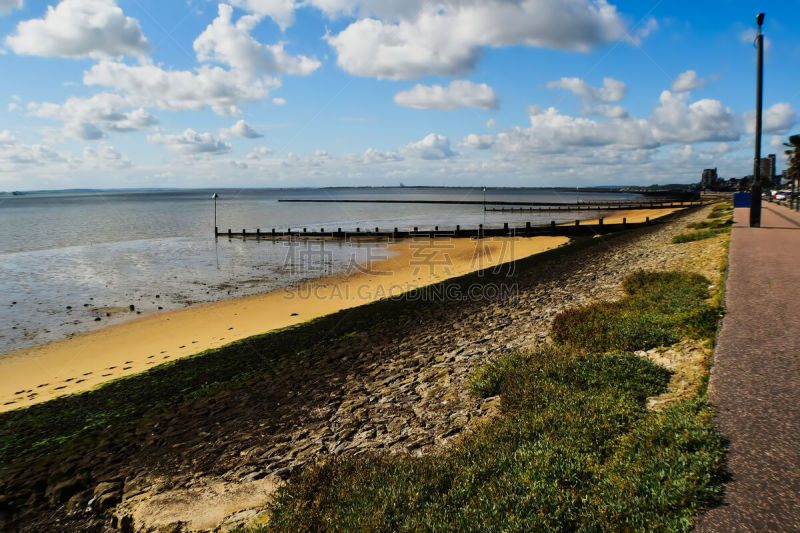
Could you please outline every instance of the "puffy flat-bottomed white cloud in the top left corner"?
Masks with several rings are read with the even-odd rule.
[[[44,18],[20,22],[6,44],[17,54],[107,58],[152,49],[139,22],[114,0],[62,0]]]

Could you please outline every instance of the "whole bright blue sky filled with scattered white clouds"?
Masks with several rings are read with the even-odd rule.
[[[740,177],[759,11],[780,171],[797,0],[0,0],[0,190]]]

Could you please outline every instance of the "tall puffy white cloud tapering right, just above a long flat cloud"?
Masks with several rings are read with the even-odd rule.
[[[256,41],[250,31],[258,23],[258,17],[244,15],[232,20],[233,8],[219,5],[219,14],[194,41],[194,50],[199,61],[216,61],[229,65],[250,76],[284,72],[305,76],[319,68],[316,59],[306,56],[290,56],[283,43],[264,45]]]

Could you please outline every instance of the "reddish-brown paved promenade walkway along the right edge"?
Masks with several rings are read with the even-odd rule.
[[[730,439],[724,503],[701,532],[800,531],[800,214],[764,203],[761,228],[736,209],[728,314],[711,401]]]

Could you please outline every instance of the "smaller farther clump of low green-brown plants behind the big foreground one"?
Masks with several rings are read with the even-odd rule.
[[[706,305],[709,281],[699,275],[639,272],[626,296],[567,310],[553,321],[553,339],[586,352],[647,350],[684,337],[709,337],[716,314]]]

